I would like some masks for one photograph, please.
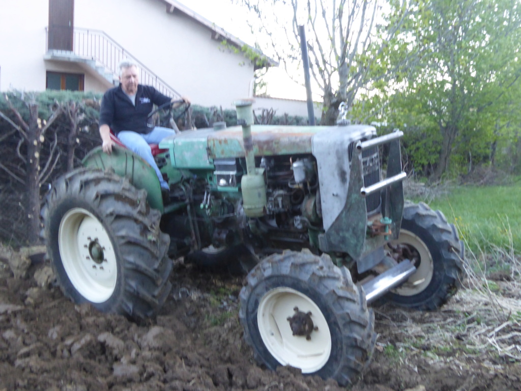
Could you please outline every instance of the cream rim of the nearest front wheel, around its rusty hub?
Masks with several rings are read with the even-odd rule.
[[[311,339],[293,335],[288,317],[293,316],[295,307],[304,313],[311,311],[313,324],[318,327]],[[257,325],[264,345],[282,365],[313,373],[329,360],[331,333],[326,318],[313,300],[295,289],[280,287],[268,291],[259,302]]]

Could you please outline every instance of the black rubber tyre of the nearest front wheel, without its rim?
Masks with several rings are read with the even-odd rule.
[[[353,284],[350,273],[334,266],[327,255],[318,257],[311,252],[284,251],[282,254],[266,258],[246,277],[245,285],[239,294],[239,320],[244,327],[244,339],[253,348],[255,360],[272,370],[275,369],[271,361],[263,357],[261,349],[254,344],[253,323],[248,319],[254,315],[247,313],[247,307],[249,301],[260,299],[254,293],[257,285],[267,278],[277,276],[290,276],[313,286],[319,295],[325,298],[341,329],[342,340],[334,341],[334,344],[342,346],[343,357],[340,362],[331,364],[331,368],[324,371],[328,374],[326,376],[321,370],[310,375],[332,377],[342,386],[352,384],[373,354],[376,343],[374,313],[367,309],[362,288]],[[334,365],[336,366],[332,368]]]

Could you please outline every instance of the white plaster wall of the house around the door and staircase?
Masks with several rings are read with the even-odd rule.
[[[0,0],[0,90],[45,89],[49,70],[85,73],[85,90],[106,90],[88,68],[44,61],[48,0]],[[160,0],[75,0],[75,27],[102,30],[194,104],[232,108],[248,96],[253,64],[212,31]]]

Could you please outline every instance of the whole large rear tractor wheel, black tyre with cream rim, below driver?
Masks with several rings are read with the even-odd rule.
[[[160,217],[144,190],[113,173],[80,168],[58,178],[42,209],[43,236],[65,296],[135,320],[157,314],[172,271]]]

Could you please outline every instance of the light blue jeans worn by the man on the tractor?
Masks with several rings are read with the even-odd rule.
[[[152,156],[150,150],[150,145],[148,144],[159,144],[159,141],[163,140],[165,137],[175,134],[176,132],[173,129],[156,126],[150,133],[148,133],[148,135],[142,135],[141,133],[129,130],[122,130],[118,133],[118,139],[125,144],[129,150],[141,156],[148,164],[150,164],[151,167],[154,168],[157,178],[159,178],[161,188],[168,189],[168,184],[165,179],[163,179],[163,175],[157,167],[154,156]]]

